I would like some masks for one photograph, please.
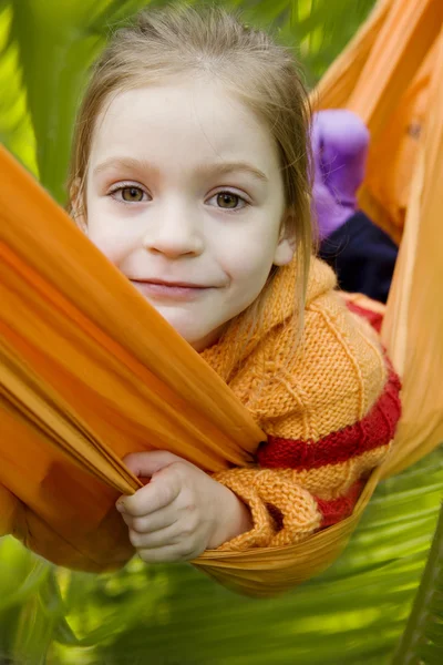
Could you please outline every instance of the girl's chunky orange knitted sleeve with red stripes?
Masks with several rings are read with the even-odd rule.
[[[251,531],[224,543],[220,550],[295,544],[349,516],[365,478],[384,459],[400,418],[401,386],[374,335],[380,317],[352,304],[348,307],[372,325],[370,328],[361,319],[356,321],[354,314],[349,315],[349,325],[356,325],[356,329],[348,338],[346,326],[344,331],[339,326],[340,346],[344,355],[350,354],[352,372],[348,376],[343,365],[342,374],[332,378],[329,387],[324,383],[316,388],[312,382],[310,390],[302,371],[292,374],[292,382],[281,379],[281,395],[291,396],[292,408],[287,397],[285,413],[270,410],[270,417],[261,419],[268,439],[259,448],[257,466],[215,475],[249,507],[254,520]],[[320,326],[324,316],[328,319],[326,309],[310,313],[308,328],[313,337],[318,336],[313,335],[312,324]],[[336,328],[332,326],[332,337]],[[307,347],[309,335],[308,330]],[[357,338],[363,339],[360,349]],[[302,359],[305,369],[309,348],[307,354]],[[336,370],[340,370],[340,364],[339,354]],[[316,370],[311,365],[315,379]],[[356,377],[358,380],[353,380]],[[322,401],[316,396],[322,396]]]

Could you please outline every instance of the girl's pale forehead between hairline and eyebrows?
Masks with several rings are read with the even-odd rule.
[[[204,80],[115,94],[95,124],[91,158],[128,151],[144,158],[175,154],[178,161],[247,158],[278,166],[264,121],[230,91]]]

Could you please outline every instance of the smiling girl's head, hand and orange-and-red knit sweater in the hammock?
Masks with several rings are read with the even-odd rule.
[[[311,256],[307,109],[287,50],[189,8],[120,30],[83,101],[73,216],[268,437],[215,477],[126,458],[151,479],[117,502],[146,562],[296,543],[350,514],[393,437],[398,379]]]

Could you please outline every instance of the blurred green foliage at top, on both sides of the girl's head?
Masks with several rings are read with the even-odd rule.
[[[313,84],[374,0],[227,0],[293,48]],[[112,28],[164,0],[0,0],[0,139],[61,203],[78,102]]]

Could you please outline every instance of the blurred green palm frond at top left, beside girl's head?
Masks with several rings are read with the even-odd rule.
[[[9,0],[3,4],[0,81],[14,104],[6,100],[0,106],[0,131],[9,122],[2,131],[10,136],[8,147],[64,203],[72,129],[89,68],[114,18],[130,16],[146,2]],[[2,112],[3,106],[17,111]]]

